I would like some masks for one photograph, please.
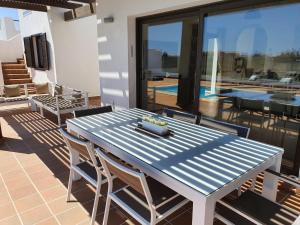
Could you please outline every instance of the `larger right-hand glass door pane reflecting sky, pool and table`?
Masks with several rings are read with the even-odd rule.
[[[199,111],[283,146],[291,169],[300,127],[299,11],[290,4],[207,16],[200,84]]]

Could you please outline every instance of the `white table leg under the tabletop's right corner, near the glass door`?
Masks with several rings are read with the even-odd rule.
[[[270,169],[276,172],[280,172],[281,160],[282,160],[282,155],[277,158],[276,162],[272,167],[270,167]],[[278,188],[278,177],[265,172],[262,195],[265,198],[275,202],[277,197],[277,188]]]

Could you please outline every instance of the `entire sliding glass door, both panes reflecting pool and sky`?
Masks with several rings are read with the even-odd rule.
[[[299,2],[245,0],[141,20],[139,107],[250,127],[251,139],[283,147],[283,168],[298,173]]]

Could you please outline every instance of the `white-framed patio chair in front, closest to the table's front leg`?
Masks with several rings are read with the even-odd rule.
[[[96,149],[108,179],[103,225],[107,225],[111,200],[143,225],[154,225],[189,201],[144,173],[123,165]],[[113,191],[112,175],[127,186]]]

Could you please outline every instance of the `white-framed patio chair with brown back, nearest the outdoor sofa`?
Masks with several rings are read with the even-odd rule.
[[[92,143],[85,140],[80,140],[70,135],[63,129],[60,129],[60,133],[63,136],[70,152],[70,176],[68,183],[67,201],[70,201],[72,183],[76,175],[81,176],[90,184],[92,184],[96,188],[91,218],[91,225],[93,225],[95,223],[98,202],[101,196],[101,185],[103,183],[106,183],[107,179],[103,176],[104,171],[99,160],[97,160],[96,158],[95,149]],[[79,155],[82,155],[84,158],[86,158],[86,160],[79,161]]]

